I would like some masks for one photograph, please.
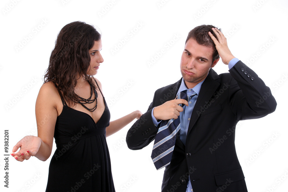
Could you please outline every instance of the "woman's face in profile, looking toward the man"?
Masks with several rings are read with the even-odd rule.
[[[100,54],[101,50],[102,50],[101,39],[99,41],[94,41],[94,46],[89,50],[91,61],[90,61],[90,69],[88,69],[87,75],[97,74],[100,63],[104,61],[102,55]]]

